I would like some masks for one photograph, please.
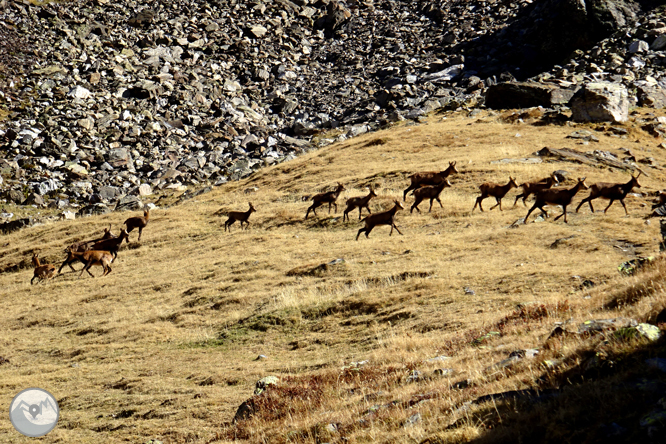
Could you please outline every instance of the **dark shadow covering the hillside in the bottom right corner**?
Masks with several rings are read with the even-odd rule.
[[[664,337],[628,354],[585,350],[578,359],[565,373],[545,372],[536,390],[483,397],[488,407],[449,429],[480,426],[477,444],[664,442]]]

